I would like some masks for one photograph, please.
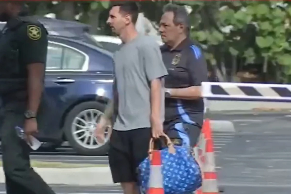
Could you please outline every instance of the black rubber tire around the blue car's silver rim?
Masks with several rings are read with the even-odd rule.
[[[102,146],[94,149],[86,148],[80,145],[73,137],[72,135],[72,122],[74,121],[75,117],[82,111],[86,109],[96,109],[98,111],[101,111],[104,113],[105,110],[105,105],[101,104],[99,102],[82,102],[72,108],[72,110],[68,113],[66,119],[65,119],[65,124],[64,124],[64,134],[66,139],[68,140],[70,146],[76,151],[78,154],[81,155],[105,155],[108,153],[109,149],[109,140]]]

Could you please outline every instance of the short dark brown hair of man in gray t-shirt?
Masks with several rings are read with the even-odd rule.
[[[119,11],[131,15],[132,23],[135,24],[139,16],[139,6],[132,1],[112,1],[110,8],[120,6]]]

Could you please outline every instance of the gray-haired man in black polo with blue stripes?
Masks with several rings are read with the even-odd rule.
[[[194,147],[203,123],[201,82],[207,81],[207,64],[201,49],[189,38],[189,17],[183,6],[168,4],[159,31],[165,78],[164,130],[175,144]]]

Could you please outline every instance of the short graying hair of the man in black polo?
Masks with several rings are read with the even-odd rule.
[[[183,24],[188,30],[190,29],[190,18],[184,6],[169,3],[163,8],[163,13],[165,12],[173,12],[175,25]]]

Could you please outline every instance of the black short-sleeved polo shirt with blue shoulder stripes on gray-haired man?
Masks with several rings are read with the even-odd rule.
[[[174,50],[166,45],[161,47],[164,64],[168,70],[165,88],[187,88],[201,86],[207,81],[207,64],[201,49],[188,38]],[[203,99],[165,99],[165,125],[178,122],[202,126]],[[171,126],[170,126],[171,127]]]

